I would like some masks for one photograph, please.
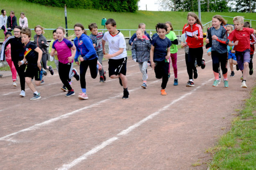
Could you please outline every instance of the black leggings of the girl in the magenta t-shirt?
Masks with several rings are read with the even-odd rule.
[[[73,63],[63,64],[59,62],[59,78],[61,79],[61,82],[64,84],[64,86],[68,88],[69,91],[72,90],[72,87],[69,84],[71,78],[74,75],[72,69]]]

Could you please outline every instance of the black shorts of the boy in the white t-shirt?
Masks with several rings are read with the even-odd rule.
[[[109,77],[111,75],[126,75],[127,57],[118,60],[109,59]]]

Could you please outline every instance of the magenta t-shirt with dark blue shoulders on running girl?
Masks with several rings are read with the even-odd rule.
[[[68,57],[72,55],[71,54],[72,46],[73,46],[72,42],[67,40],[66,38],[64,38],[61,42],[59,42],[59,40],[55,40],[53,42],[52,48],[57,51],[59,62],[61,62],[62,64],[68,63]]]

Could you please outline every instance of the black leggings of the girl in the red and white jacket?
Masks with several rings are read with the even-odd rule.
[[[197,60],[197,65],[201,66],[202,57],[203,57],[203,47],[188,49],[187,71],[188,71],[189,79],[193,79],[193,68],[195,67],[195,60]]]

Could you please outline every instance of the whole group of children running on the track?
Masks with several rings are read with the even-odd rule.
[[[203,55],[203,32],[202,24],[193,12],[189,12],[188,23],[184,26],[184,34],[181,36],[181,47],[185,47],[185,59],[189,81],[187,87],[195,86],[193,78],[196,79],[197,66],[205,68]],[[31,30],[29,28],[14,28],[14,36],[8,36],[2,45],[1,60],[5,53],[11,50],[11,60],[20,77],[21,97],[25,97],[25,82],[33,92],[31,100],[41,99],[41,95],[36,91],[32,83],[34,78],[37,86],[41,85],[43,74],[47,72],[42,68],[48,69],[53,75],[52,66],[47,66],[47,47],[50,47],[50,56],[55,60],[59,77],[63,83],[61,88],[66,91],[66,97],[75,95],[71,85],[71,78],[80,80],[82,93],[79,93],[79,99],[88,99],[86,93],[85,75],[87,68],[90,68],[91,77],[95,79],[98,71],[100,72],[100,82],[106,81],[106,71],[102,67],[103,57],[108,59],[109,77],[112,79],[118,78],[119,83],[123,86],[122,99],[128,99],[128,81],[126,77],[127,52],[126,42],[123,34],[116,29],[116,22],[113,19],[106,21],[106,33],[97,31],[97,24],[92,23],[88,26],[91,35],[85,34],[82,24],[74,25],[76,38],[74,44],[65,38],[65,29],[59,26],[53,31],[52,42],[50,46],[43,36],[43,28],[35,27],[36,35],[34,42],[31,42]],[[241,16],[233,18],[233,26],[227,25],[226,21],[220,15],[214,15],[212,26],[208,28],[206,38],[206,47],[211,48],[208,54],[211,53],[213,60],[213,74],[215,80],[213,86],[220,84],[220,68],[222,70],[224,87],[229,87],[227,79],[227,61],[229,59],[232,66],[230,77],[234,76],[233,63],[237,64],[242,71],[242,85],[247,88],[246,78],[248,72],[253,73],[252,56],[254,53],[254,43],[256,42],[254,34],[256,30],[245,28],[244,19]],[[248,24],[247,24],[248,26]],[[141,73],[143,74],[142,88],[147,88],[147,67],[151,66],[154,69],[157,79],[162,79],[161,95],[166,95],[165,87],[170,77],[170,60],[174,70],[174,86],[178,85],[177,76],[177,44],[178,40],[173,31],[171,22],[158,23],[156,32],[152,36],[145,31],[145,24],[140,23],[138,30],[129,40],[132,46],[132,59],[138,62]],[[249,27],[249,26],[248,26]],[[233,30],[233,31],[232,31]],[[105,44],[109,42],[109,53],[106,53]],[[251,43],[251,45],[250,45]],[[11,44],[11,47],[7,47]],[[233,46],[232,49],[229,46]],[[3,52],[5,51],[5,52]],[[235,54],[235,55],[234,55]],[[81,57],[79,57],[81,55]],[[80,76],[75,68],[73,61],[79,65]],[[42,62],[41,62],[42,61]],[[237,62],[236,62],[237,61]],[[196,62],[196,64],[195,64]],[[43,63],[43,64],[42,64]],[[231,68],[230,66],[230,68]],[[27,68],[26,68],[27,67]],[[249,67],[249,68],[248,68]],[[26,71],[25,71],[26,68]],[[250,71],[249,71],[250,69]]]

